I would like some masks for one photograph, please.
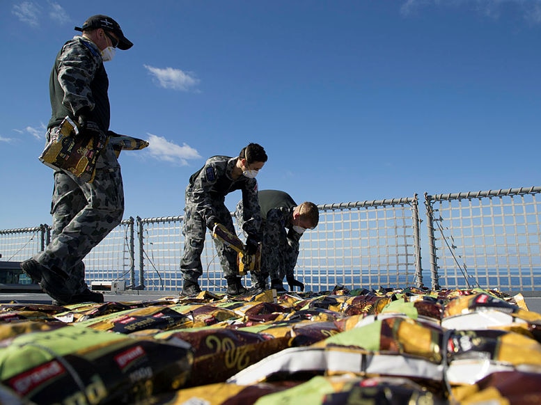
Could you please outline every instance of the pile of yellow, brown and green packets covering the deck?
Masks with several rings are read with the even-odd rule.
[[[540,404],[541,315],[414,287],[0,304],[0,379],[0,404]]]

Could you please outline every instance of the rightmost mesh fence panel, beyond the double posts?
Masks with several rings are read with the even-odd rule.
[[[535,196],[540,191],[425,196],[434,233],[433,287],[541,287],[541,202]]]

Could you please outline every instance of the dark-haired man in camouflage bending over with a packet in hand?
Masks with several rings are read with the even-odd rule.
[[[203,274],[201,253],[205,243],[205,226],[212,232],[217,224],[224,225],[235,234],[233,219],[225,205],[226,195],[242,190],[244,201],[244,225],[246,253],[254,254],[260,242],[260,208],[258,182],[255,177],[267,161],[265,150],[257,143],[242,148],[238,157],[214,156],[205,166],[191,175],[186,188],[185,218],[182,233],[185,237],[184,256],[180,263],[183,285],[181,295],[190,296],[201,292],[198,278]],[[246,292],[238,275],[237,253],[214,239],[221,268],[227,280],[227,294]]]

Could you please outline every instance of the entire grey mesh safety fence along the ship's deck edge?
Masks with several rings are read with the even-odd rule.
[[[541,187],[528,187],[425,193],[423,237],[416,195],[320,205],[319,225],[301,238],[295,273],[315,292],[337,284],[539,290],[540,192]],[[0,260],[26,260],[44,248],[49,232],[48,225],[0,230]],[[87,255],[87,283],[123,280],[133,290],[178,291],[183,243],[182,216],[127,219]],[[423,244],[430,261],[424,271]],[[201,287],[225,288],[210,232],[202,262]]]

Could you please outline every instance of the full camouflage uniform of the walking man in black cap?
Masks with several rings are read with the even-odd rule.
[[[52,117],[47,139],[65,116],[74,118],[83,107],[92,110],[100,130],[109,129],[109,79],[100,49],[81,36],[65,43],[56,56],[49,80]],[[122,220],[124,191],[120,165],[111,145],[97,160],[95,178],[81,182],[63,170],[54,172],[52,241],[34,257],[47,269],[68,273],[66,289],[73,294],[88,287],[82,260]]]

